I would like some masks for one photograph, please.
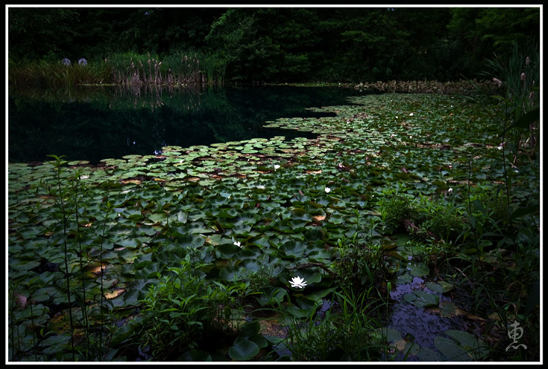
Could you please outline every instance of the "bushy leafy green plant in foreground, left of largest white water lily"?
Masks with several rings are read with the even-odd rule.
[[[223,285],[208,282],[199,263],[181,260],[160,281],[151,286],[142,300],[142,323],[134,328],[134,337],[156,360],[166,360],[198,348],[199,341],[234,334],[242,322],[242,302],[247,294],[245,283]]]

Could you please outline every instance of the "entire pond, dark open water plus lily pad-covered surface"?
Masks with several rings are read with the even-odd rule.
[[[70,170],[56,170],[51,163],[8,166],[13,360],[36,360],[38,355],[74,360],[71,352],[84,347],[86,332],[101,344],[108,342],[108,351],[101,345],[98,353],[82,348],[82,358],[116,355],[128,361],[260,360],[262,355],[322,361],[334,357],[327,354],[340,354],[326,349],[326,343],[338,342],[349,343],[356,361],[378,357],[379,345],[384,350],[380,359],[471,361],[499,359],[500,347],[512,343],[502,319],[497,322],[501,313],[489,309],[473,277],[460,277],[460,268],[467,272],[475,262],[468,259],[470,253],[483,258],[486,273],[501,268],[509,276],[478,279],[490,283],[493,293],[499,293],[500,285],[506,295],[505,283],[526,278],[512,270],[521,251],[514,256],[491,246],[502,238],[511,241],[511,235],[493,228],[490,239],[479,233],[476,238],[466,218],[474,196],[477,219],[487,229],[480,209],[499,203],[490,183],[503,183],[499,141],[493,135],[497,116],[485,109],[486,99],[347,97],[355,91],[282,87],[86,92],[42,95],[41,100],[10,98],[29,117],[30,112],[40,117],[49,112],[53,120],[45,126],[66,122],[59,137],[53,135],[61,133],[35,128],[34,141],[25,143],[28,153],[42,155],[42,149],[47,155],[50,148],[39,145],[53,136],[58,142],[76,142],[56,149],[69,160],[78,160],[78,153],[83,160],[112,158],[104,166],[71,162]],[[25,99],[31,102],[24,105]],[[99,108],[92,110],[93,104]],[[73,105],[73,115],[64,116]],[[307,109],[314,105],[329,106]],[[25,152],[15,150],[11,136],[25,127],[24,120],[12,120],[17,111],[10,107],[10,155]],[[78,118],[82,111],[86,118]],[[277,118],[320,113],[327,116]],[[98,138],[89,144],[71,137],[87,132],[86,123]],[[282,142],[276,137],[311,134],[306,131],[317,139]],[[262,138],[251,138],[256,136]],[[141,147],[141,142],[146,144]],[[78,144],[84,149],[69,153]],[[150,155],[159,150],[161,157]],[[136,152],[141,155],[129,155]],[[115,159],[121,156],[124,160]],[[516,193],[532,199],[528,206],[534,209],[538,167],[530,173],[518,168],[511,172],[512,183],[519,188]],[[73,173],[78,174],[76,182]],[[62,192],[62,186],[72,192]],[[67,202],[59,201],[67,193]],[[409,215],[403,218],[403,212]],[[65,223],[64,214],[69,214]],[[534,235],[539,221],[531,218],[522,220],[527,227],[533,223],[532,229],[516,222],[516,229],[523,229],[516,234]],[[469,235],[466,242],[453,248],[462,234]],[[481,254],[479,241],[487,241]],[[533,251],[527,256],[531,270],[538,265],[534,242],[527,246],[527,253]],[[72,274],[64,272],[69,265]],[[482,276],[479,270],[474,273]],[[304,281],[306,288],[294,281]],[[523,285],[538,288],[530,284]],[[203,295],[195,294],[195,287]],[[69,292],[75,296],[72,302]],[[88,300],[84,294],[93,297]],[[367,310],[358,305],[366,298]],[[190,326],[186,313],[173,324],[167,320],[182,301],[190,300],[192,322],[214,322],[215,329],[226,333],[196,330],[192,334],[203,338],[197,341],[199,350],[190,349],[186,338],[173,340],[182,337],[180,327]],[[344,310],[346,302],[360,309]],[[105,322],[98,313],[107,303]],[[209,315],[202,309],[207,304]],[[318,309],[316,325],[309,317]],[[75,335],[68,328],[73,319],[77,350],[71,348]],[[99,322],[112,329],[108,337],[91,328]],[[302,329],[305,322],[311,324]],[[240,324],[245,328],[236,337],[232,329]],[[32,327],[47,334],[35,338],[29,333]],[[538,330],[526,331],[532,332],[530,341],[521,342],[533,351]],[[356,347],[364,350],[353,351]]]

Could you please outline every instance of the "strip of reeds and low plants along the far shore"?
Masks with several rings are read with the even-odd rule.
[[[200,62],[201,60],[201,62]],[[192,88],[204,86],[238,86],[225,81],[223,62],[208,55],[180,53],[159,60],[148,55],[123,54],[104,62],[86,65],[62,62],[25,62],[10,60],[8,88],[12,90],[47,88],[86,88],[130,86],[132,88]],[[248,84],[240,85],[247,86]],[[413,80],[375,82],[256,83],[256,86],[323,86],[354,88],[380,93],[498,94],[500,86],[493,79],[458,79],[456,81]]]

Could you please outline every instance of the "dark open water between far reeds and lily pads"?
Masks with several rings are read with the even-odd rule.
[[[42,162],[47,155],[97,163],[124,155],[153,155],[169,145],[312,133],[262,127],[282,117],[319,117],[306,107],[345,105],[352,88],[231,87],[200,90],[80,88],[10,91],[8,161]]]

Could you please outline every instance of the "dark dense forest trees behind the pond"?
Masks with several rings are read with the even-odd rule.
[[[476,78],[540,8],[8,8],[10,66],[199,51],[242,82]]]

